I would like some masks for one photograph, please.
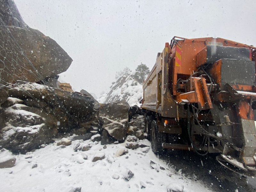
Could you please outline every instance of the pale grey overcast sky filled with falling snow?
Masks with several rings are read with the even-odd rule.
[[[61,82],[74,91],[107,91],[116,71],[150,70],[173,36],[222,37],[255,45],[255,0],[14,0],[24,21],[73,59]]]

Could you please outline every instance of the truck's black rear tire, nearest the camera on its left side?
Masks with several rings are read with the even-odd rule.
[[[158,132],[158,126],[156,120],[152,121],[151,124],[151,132],[150,132],[150,139],[151,139],[151,148],[155,154],[163,154],[164,149],[162,147],[162,143],[166,142],[166,134]]]

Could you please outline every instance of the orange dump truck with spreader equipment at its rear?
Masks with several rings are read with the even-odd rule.
[[[224,166],[255,173],[255,59],[255,47],[222,38],[165,43],[143,84],[152,150],[220,153]]]

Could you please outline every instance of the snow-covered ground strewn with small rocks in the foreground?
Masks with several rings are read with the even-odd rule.
[[[75,152],[73,147],[77,142],[90,144],[92,148]],[[146,139],[139,144],[150,146]],[[49,144],[26,155],[16,155],[14,167],[0,169],[0,191],[68,192],[76,187],[82,187],[82,192],[167,191],[168,185],[183,185],[184,192],[210,191],[200,181],[188,179],[169,167],[151,149],[147,153],[145,148],[128,149],[127,154],[116,156],[116,151],[125,148],[125,143],[106,147],[97,141],[76,140],[65,148]],[[104,155],[102,152],[105,158],[92,162],[93,156]],[[156,163],[155,169],[151,168],[150,161]],[[134,174],[129,181],[124,179],[128,170]]]

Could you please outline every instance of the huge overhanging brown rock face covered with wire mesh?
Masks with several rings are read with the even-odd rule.
[[[17,80],[38,82],[68,69],[72,59],[60,45],[40,31],[29,28],[12,0],[1,0],[1,5],[0,30],[4,35],[0,36],[0,41],[9,52],[0,55],[0,69],[3,69],[0,84]],[[15,60],[19,62],[13,62]]]

